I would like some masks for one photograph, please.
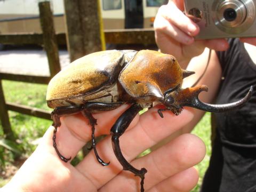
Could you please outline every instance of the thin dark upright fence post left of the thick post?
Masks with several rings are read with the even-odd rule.
[[[44,49],[47,54],[50,76],[53,77],[60,71],[59,49],[53,23],[50,2],[39,2],[39,15],[43,31]]]

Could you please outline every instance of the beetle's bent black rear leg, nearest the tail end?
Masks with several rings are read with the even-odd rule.
[[[53,147],[56,153],[58,154],[58,156],[60,157],[60,159],[66,163],[71,159],[71,157],[69,158],[64,157],[63,155],[60,154],[60,151],[58,150],[57,143],[56,143],[57,128],[61,125],[61,122],[60,122],[61,116],[77,114],[80,111],[81,111],[81,106],[65,106],[65,107],[63,106],[63,107],[56,107],[51,114],[52,120],[53,120],[52,126],[54,126],[53,137],[52,137]]]

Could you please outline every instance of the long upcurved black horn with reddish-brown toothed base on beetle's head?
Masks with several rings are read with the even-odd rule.
[[[243,99],[233,103],[227,103],[227,104],[221,104],[221,105],[212,105],[212,104],[204,103],[198,99],[198,94],[202,91],[207,91],[207,90],[208,88],[205,85],[199,85],[196,87],[184,89],[181,91],[181,95],[183,96],[186,95],[186,97],[189,99],[183,100],[183,102],[181,101],[181,103],[183,104],[183,106],[194,107],[204,111],[225,112],[225,111],[242,107],[251,98],[252,92],[253,92],[253,86],[250,87],[249,92],[245,95]],[[182,100],[182,98],[180,99]]]

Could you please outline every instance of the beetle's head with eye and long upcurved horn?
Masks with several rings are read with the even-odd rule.
[[[242,107],[250,99],[253,92],[253,86],[250,87],[249,92],[247,92],[243,99],[222,105],[211,105],[200,101],[198,99],[198,94],[202,91],[208,91],[206,85],[198,85],[186,89],[175,87],[172,90],[167,90],[164,94],[164,101],[162,102],[166,108],[159,109],[158,114],[163,117],[162,111],[171,110],[175,115],[179,115],[183,106],[189,106],[210,112],[225,112],[233,110]]]

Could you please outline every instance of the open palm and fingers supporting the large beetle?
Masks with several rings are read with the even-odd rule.
[[[136,191],[140,178],[123,171],[111,147],[110,127],[128,108],[123,105],[106,113],[93,114],[98,119],[95,134],[108,136],[97,143],[99,155],[108,166],[101,166],[93,151],[73,166],[60,160],[52,144],[54,127],[50,127],[34,153],[21,166],[3,191]],[[167,135],[187,124],[193,114],[186,108],[179,116],[164,111],[159,117],[157,107],[137,115],[120,138],[127,161],[140,169],[146,167],[146,191],[190,191],[198,180],[194,165],[205,155],[203,142],[192,134],[183,134],[152,153],[136,158]],[[91,127],[82,115],[61,118],[57,131],[57,145],[63,156],[74,158],[87,141]]]

